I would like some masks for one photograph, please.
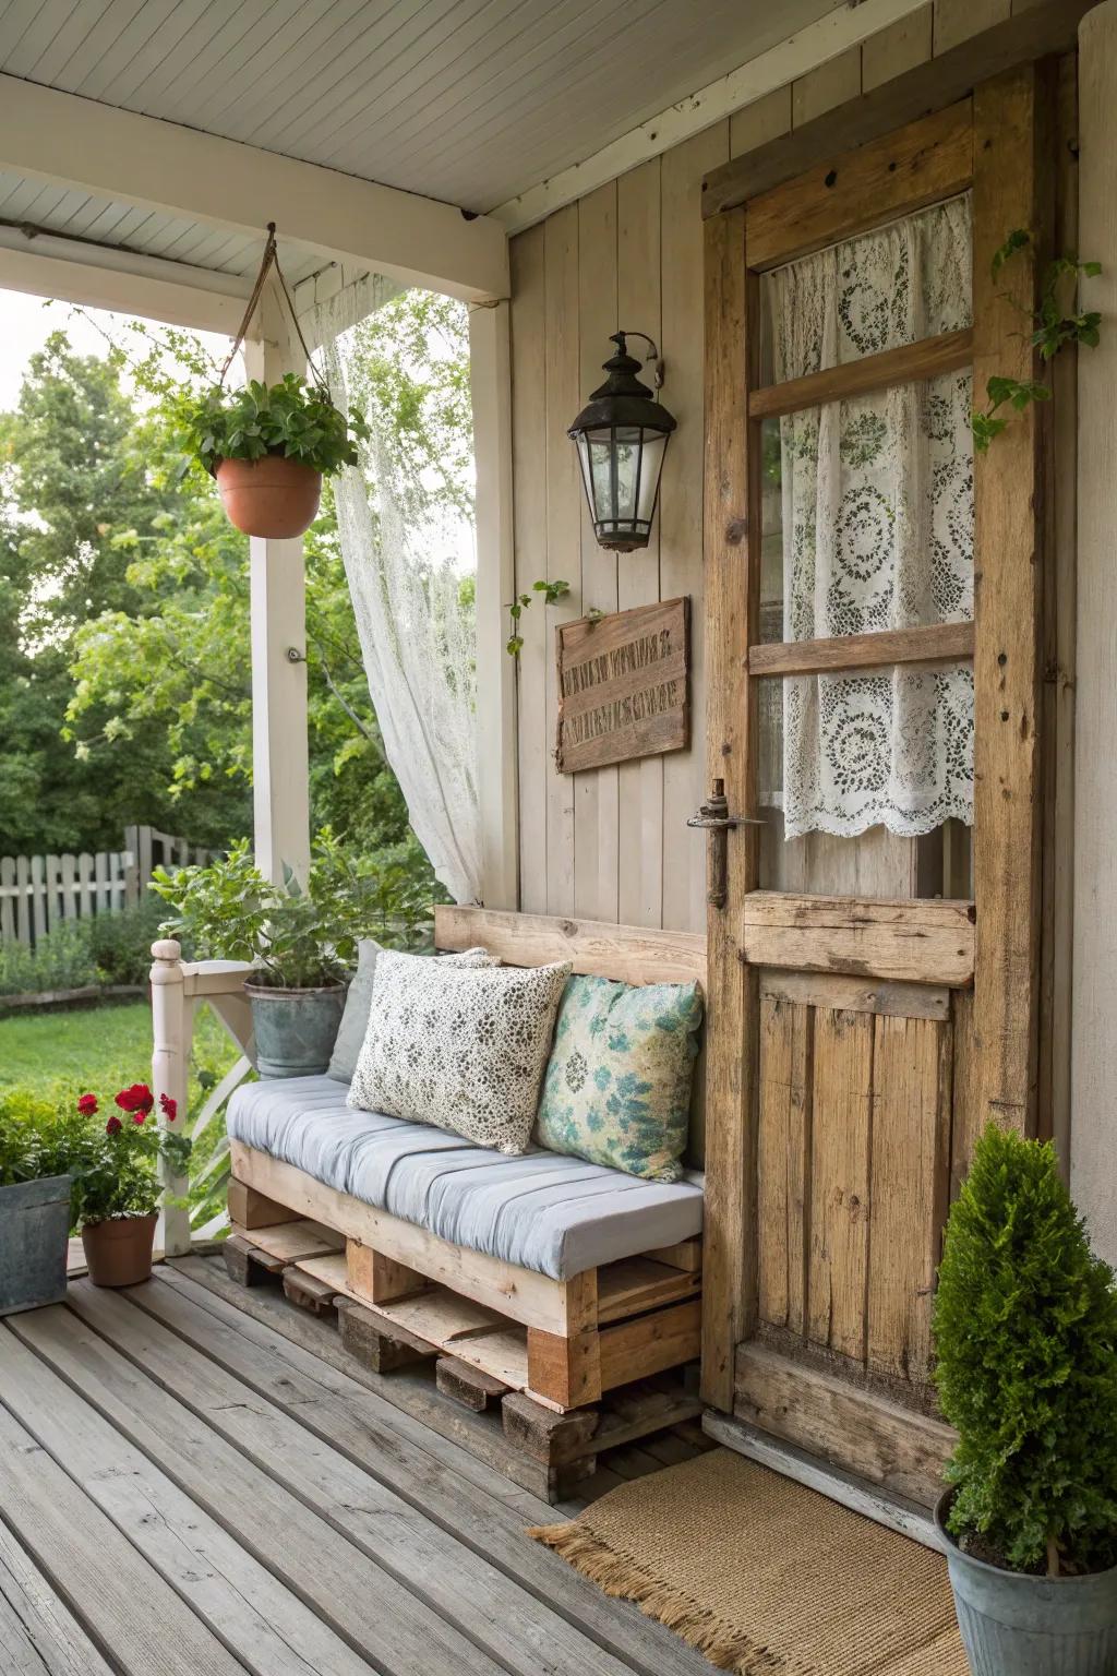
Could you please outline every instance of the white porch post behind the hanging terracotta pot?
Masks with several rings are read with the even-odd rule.
[[[256,315],[261,339],[245,344],[250,379],[276,384],[306,360],[275,278]],[[250,538],[253,677],[253,825],[256,865],[281,880],[310,866],[310,764],[306,749],[306,585],[303,543]]]

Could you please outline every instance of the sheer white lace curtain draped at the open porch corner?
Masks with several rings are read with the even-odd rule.
[[[410,825],[456,902],[481,897],[476,635],[445,535],[404,510],[392,439],[367,401],[360,317],[399,287],[315,308],[315,339],[342,411],[363,407],[372,441],[333,479],[338,536],[383,749]]]

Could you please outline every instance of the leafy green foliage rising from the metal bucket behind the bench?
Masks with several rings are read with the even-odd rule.
[[[151,888],[174,910],[162,934],[189,940],[198,959],[248,960],[253,980],[275,989],[340,982],[357,960],[357,940],[414,947],[430,922],[429,895],[392,856],[355,856],[323,828],[306,883],[290,868],[276,885],[241,838],[208,866],[156,868]]]

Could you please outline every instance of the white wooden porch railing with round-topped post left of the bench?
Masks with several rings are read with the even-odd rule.
[[[181,945],[172,939],[152,944],[151,952],[154,957],[151,967],[151,1024],[154,1042],[151,1086],[156,1094],[159,1126],[167,1126],[159,1106],[161,1096],[167,1094],[176,1103],[179,1113],[176,1123],[188,1125],[186,1133],[191,1140],[198,1140],[224,1108],[233,1089],[253,1069],[251,1009],[243,987],[251,967],[243,960],[183,960]],[[233,1042],[241,1049],[241,1056],[209,1093],[204,1106],[191,1121],[188,1093],[194,1012],[199,1006],[206,1004],[218,1016]],[[206,1212],[211,1210],[211,1200],[223,1187],[228,1173],[228,1141],[223,1141],[199,1175],[194,1177],[194,1183],[209,1182],[211,1190],[206,1193],[204,1202],[191,1212],[183,1203],[189,1192],[189,1177],[171,1175],[164,1170],[162,1212],[156,1244],[167,1257],[181,1257],[191,1249],[193,1239],[209,1239],[224,1225],[224,1208],[218,1208],[211,1215]]]

